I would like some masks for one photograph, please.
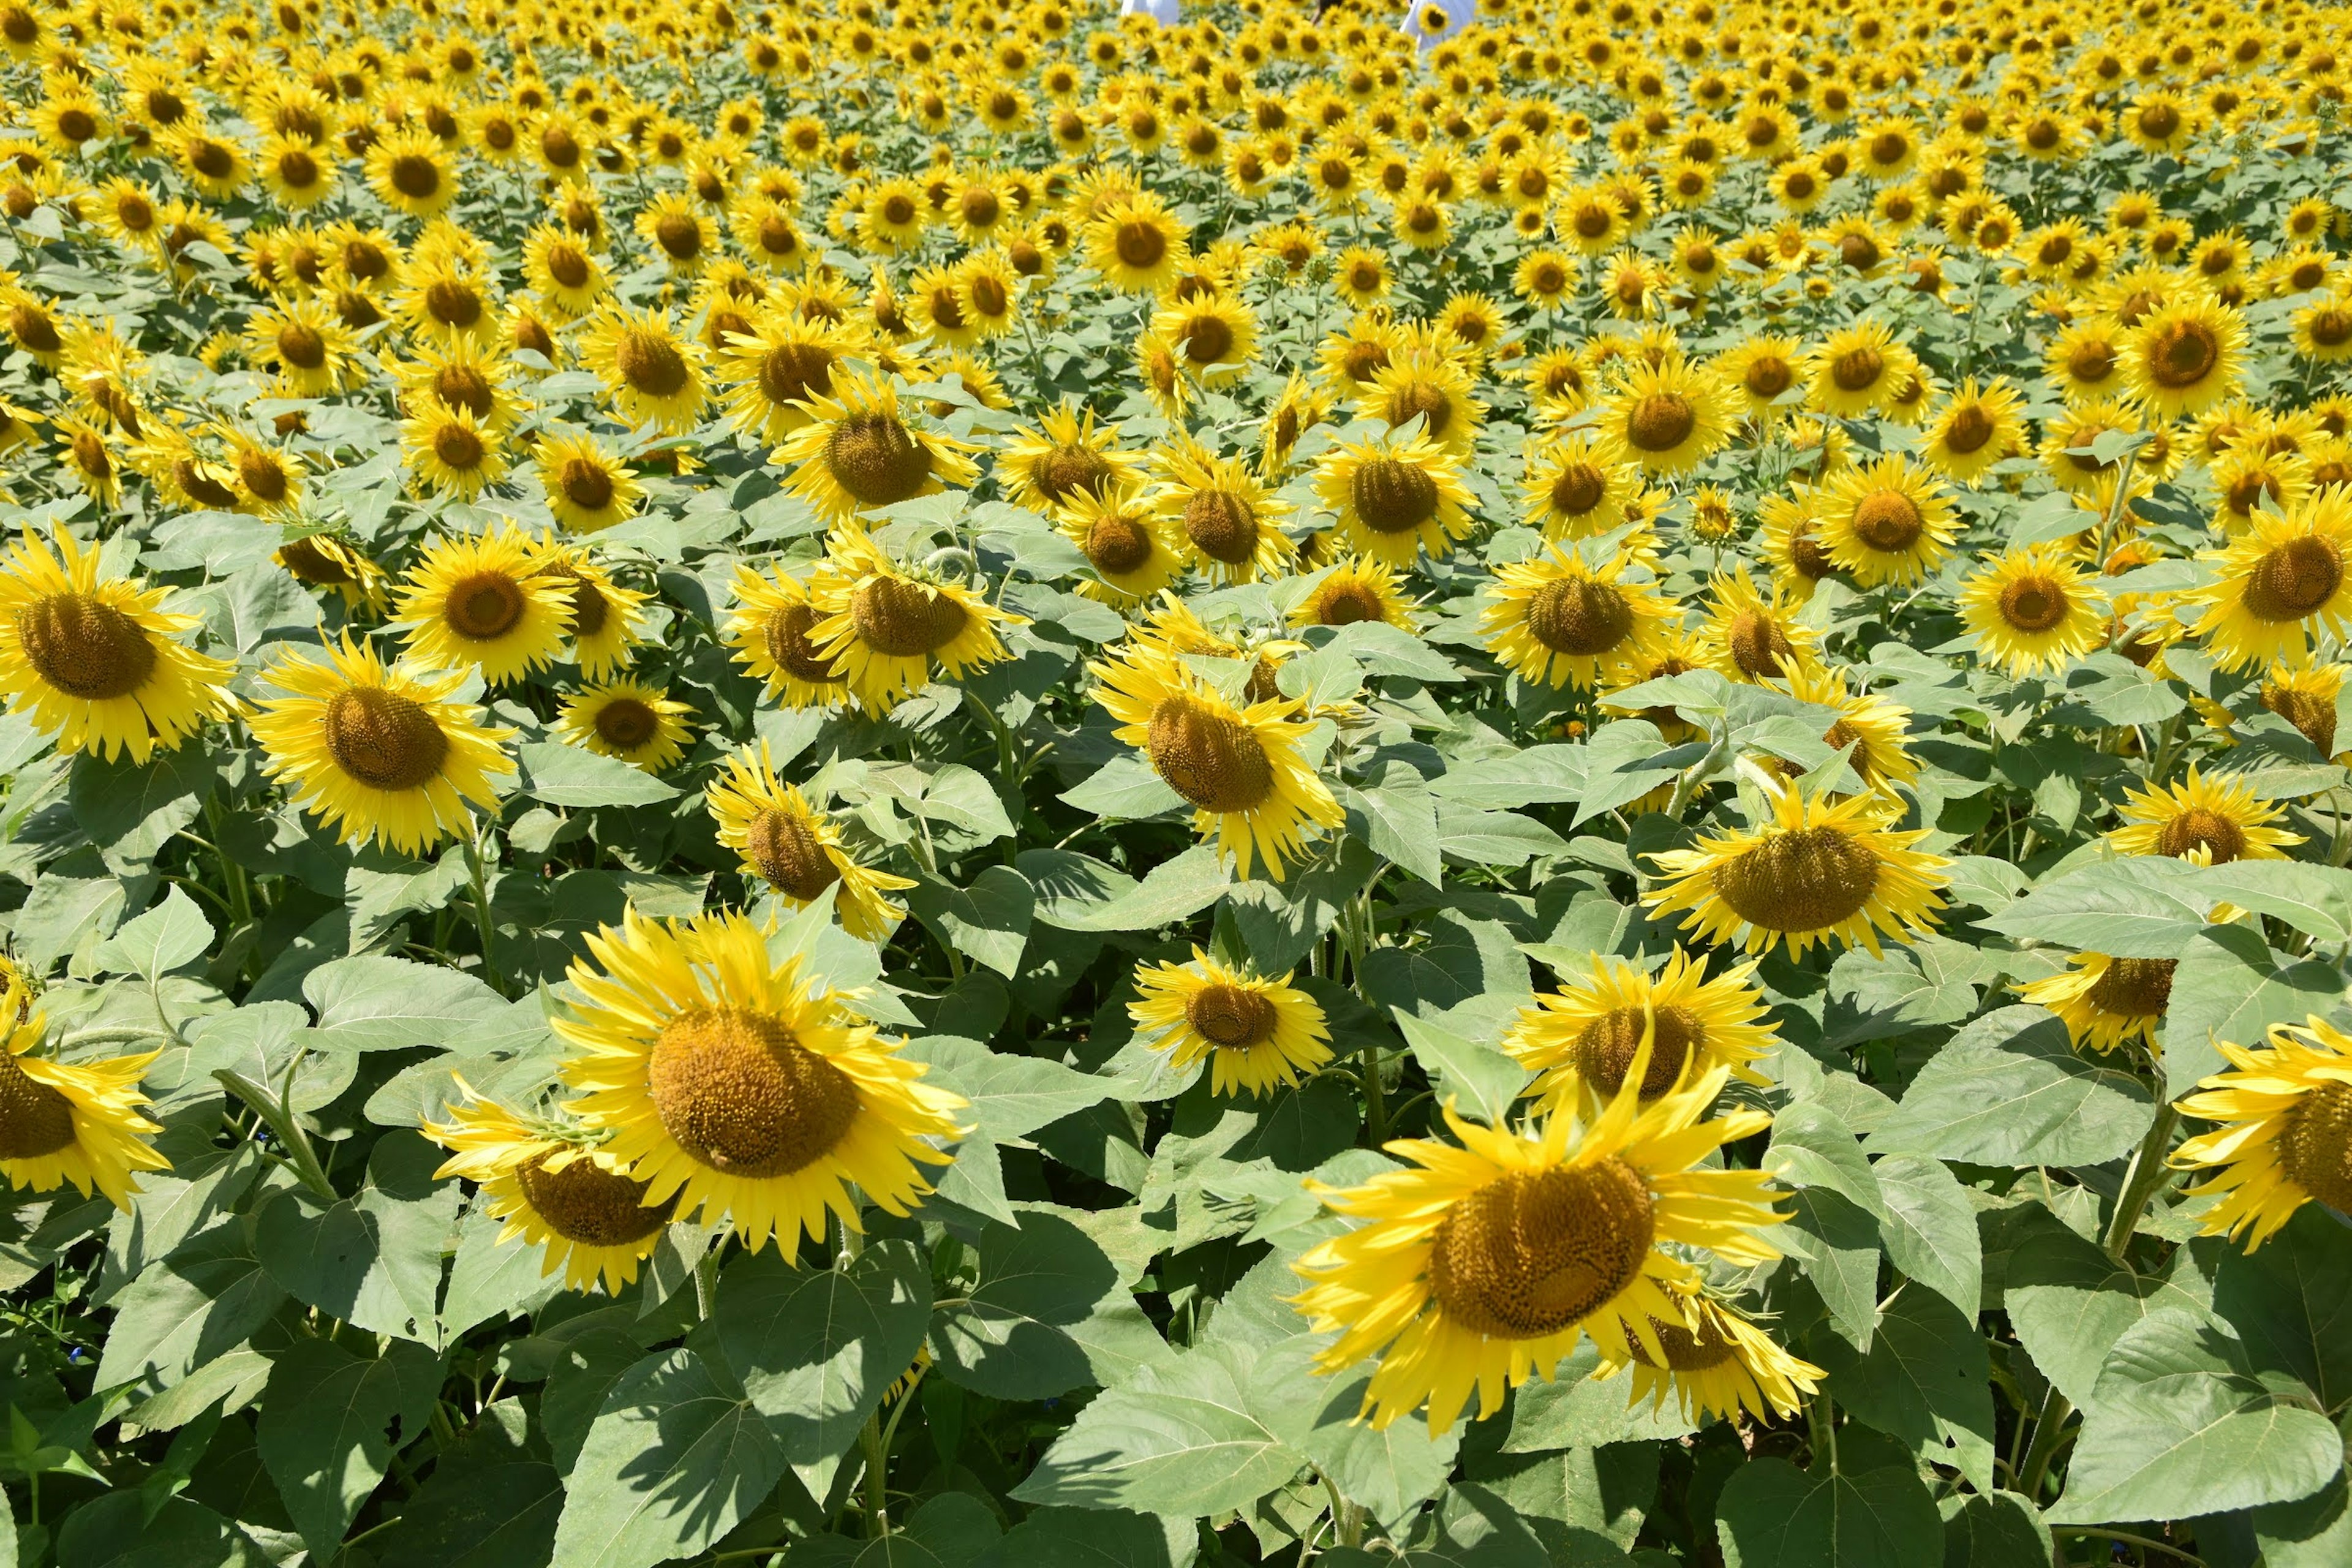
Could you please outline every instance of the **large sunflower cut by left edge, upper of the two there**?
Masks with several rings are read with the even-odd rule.
[[[99,552],[71,531],[54,550],[31,527],[0,564],[0,693],[56,738],[59,752],[122,752],[141,766],[238,712],[233,665],[174,632],[200,625],[165,609],[172,590],[99,576]]]

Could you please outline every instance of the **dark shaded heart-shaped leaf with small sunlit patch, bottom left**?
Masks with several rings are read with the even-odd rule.
[[[278,1356],[256,1441],[310,1556],[334,1559],[393,1455],[423,1434],[440,1382],[440,1356],[407,1340],[374,1359],[332,1340]]]

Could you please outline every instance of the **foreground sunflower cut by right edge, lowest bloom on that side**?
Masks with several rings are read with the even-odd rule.
[[[2352,1213],[2352,1039],[2321,1018],[2279,1023],[2249,1051],[2216,1041],[2232,1072],[2199,1079],[2180,1110],[2220,1121],[2173,1150],[2171,1164],[2211,1171],[2187,1197],[2218,1194],[2204,1211],[2206,1237],[2263,1246],[2317,1199]]]

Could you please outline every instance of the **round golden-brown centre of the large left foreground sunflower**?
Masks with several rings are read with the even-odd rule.
[[[858,1086],[793,1039],[781,1018],[699,1006],[661,1030],[647,1060],[661,1126],[727,1175],[790,1175],[830,1154],[858,1117]]]

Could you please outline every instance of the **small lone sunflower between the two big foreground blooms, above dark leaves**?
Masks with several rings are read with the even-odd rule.
[[[1315,997],[1289,976],[1232,969],[1200,947],[1190,964],[1138,969],[1127,1016],[1178,1070],[1207,1060],[1209,1091],[1221,1095],[1291,1088],[1331,1060],[1331,1030]]]

